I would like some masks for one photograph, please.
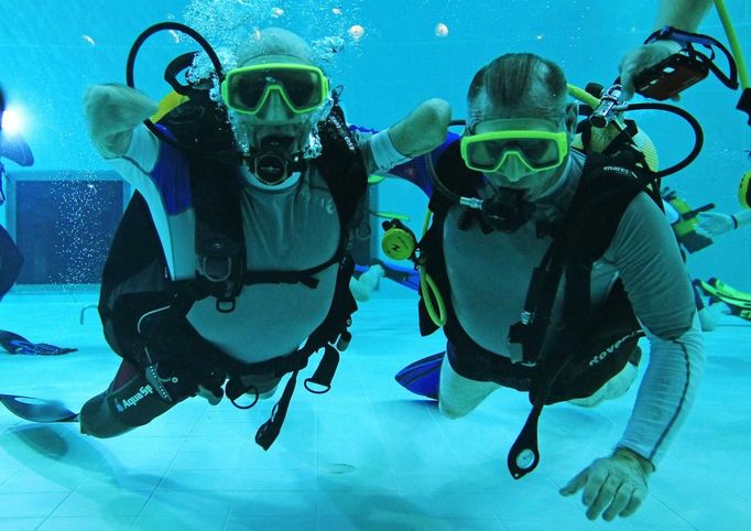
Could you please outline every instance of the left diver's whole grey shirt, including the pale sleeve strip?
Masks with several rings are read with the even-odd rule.
[[[192,279],[196,271],[195,213],[189,205],[181,212],[167,208],[167,185],[151,174],[160,150],[160,141],[139,127],[126,155],[110,162],[146,199],[170,277]],[[248,270],[298,271],[334,256],[340,239],[339,218],[331,194],[315,170],[293,175],[275,187],[250,174],[246,181],[240,201]],[[317,273],[315,289],[301,283],[244,286],[231,313],[217,312],[214,297],[198,301],[188,321],[203,337],[238,360],[255,362],[287,355],[326,317],[337,268],[335,263]]]

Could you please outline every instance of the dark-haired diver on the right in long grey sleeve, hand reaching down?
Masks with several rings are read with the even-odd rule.
[[[645,499],[695,400],[704,347],[643,154],[625,140],[608,154],[570,150],[577,111],[566,95],[560,67],[533,54],[476,74],[465,133],[435,163],[434,218],[414,257],[421,333],[443,326],[448,339],[437,355],[445,416],[501,387],[529,392],[533,409],[508,458],[514,478],[540,462],[543,407],[625,392],[646,335],[649,367],[616,451],[560,490],[581,489],[587,517],[612,520]]]

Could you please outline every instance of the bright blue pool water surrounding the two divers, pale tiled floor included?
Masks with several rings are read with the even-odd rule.
[[[80,178],[107,171],[86,133],[83,94],[92,84],[123,83],[132,42],[156,22],[175,20],[200,26],[216,46],[269,25],[290,29],[311,41],[341,39],[344,50],[325,66],[334,83],[345,87],[347,118],[383,129],[431,97],[448,100],[454,116],[462,118],[474,73],[505,52],[533,52],[554,59],[578,86],[607,85],[614,79],[622,54],[651,32],[654,4],[652,0],[0,0],[0,86],[9,105],[22,116],[22,133],[35,156],[30,169],[12,163],[7,169],[20,180]],[[751,56],[751,1],[727,4],[739,41]],[[208,6],[221,14],[218,22],[202,17]],[[444,24],[447,34],[437,34],[437,24]],[[348,33],[353,25],[363,29],[359,40]],[[701,30],[725,42],[716,13],[707,17]],[[137,65],[137,86],[160,99],[170,90],[162,80],[164,67],[191,50],[195,46],[189,41],[175,35],[149,41]],[[745,124],[748,117],[734,110],[737,100],[738,93],[709,78],[686,91],[678,104],[704,126],[705,149],[692,166],[665,184],[677,188],[692,206],[712,202],[718,212],[740,208],[737,188],[741,174],[751,169],[751,128]],[[688,151],[690,136],[679,120],[655,112],[632,118],[654,140],[663,165]],[[73,212],[85,216],[98,207],[86,203],[88,197],[61,201],[75,204]],[[13,226],[13,201],[11,196],[9,205],[0,207],[3,226]],[[417,231],[426,202],[405,183],[385,183],[379,185],[375,206],[410,215],[410,225]],[[76,225],[76,219],[69,221]],[[92,260],[80,252],[85,245],[78,238],[56,245],[59,250],[51,252],[74,253],[79,263]],[[719,277],[744,291],[751,291],[749,263],[748,229],[722,236],[688,259],[694,277]],[[62,391],[62,398],[75,404],[108,381],[117,358],[104,344],[94,315],[86,325],[77,324],[78,311],[95,303],[96,293],[91,285],[77,285],[76,278],[74,271],[62,285],[19,285],[0,304],[0,328],[81,347],[81,353],[73,355],[78,358],[55,360],[61,364],[55,366],[48,359],[2,355],[0,392],[48,395],[63,376],[76,382],[76,389]],[[503,448],[523,418],[522,401],[504,409],[508,402],[503,400],[515,399],[497,397],[478,418],[466,420],[465,429],[445,424],[448,421],[422,403],[407,402],[409,397],[391,383],[391,375],[433,354],[439,342],[421,342],[414,326],[404,326],[415,324],[411,293],[384,284],[375,299],[362,310],[373,321],[360,321],[357,326],[362,335],[359,346],[353,345],[353,356],[368,358],[367,367],[373,371],[346,369],[340,381],[355,383],[345,383],[338,399],[324,401],[325,405],[303,399],[304,407],[318,409],[318,420],[298,419],[303,426],[294,433],[298,430],[303,441],[311,442],[304,427],[315,424],[314,449],[291,443],[282,451],[284,459],[275,454],[270,460],[270,455],[255,448],[250,453],[243,438],[250,427],[230,427],[225,421],[233,410],[213,413],[203,402],[184,408],[172,420],[160,420],[143,436],[118,443],[83,442],[69,426],[34,431],[0,411],[0,529],[243,529],[251,521],[270,529],[597,529],[586,523],[577,500],[560,500],[556,484],[586,464],[587,448],[614,440],[631,402],[621,409],[598,410],[589,418],[579,410],[566,410],[548,424],[544,436],[551,445],[562,434],[568,442],[551,451],[541,479],[526,485],[509,481],[502,477]],[[371,326],[372,322],[383,326]],[[751,433],[744,405],[751,371],[748,333],[747,322],[725,317],[719,332],[708,339],[708,381],[703,391],[708,398],[697,403],[695,415],[700,421],[692,418],[665,464],[666,473],[655,475],[651,509],[633,523],[620,522],[612,529],[751,528]],[[630,395],[633,400],[633,390]],[[336,413],[337,404],[351,407],[348,411],[361,422],[360,436],[345,433],[345,425],[357,422]],[[611,422],[611,414],[618,420]],[[499,442],[489,426],[505,421],[513,427]],[[598,423],[605,427],[597,427]],[[412,434],[415,424],[438,442]],[[207,426],[226,437],[217,442],[219,437]],[[581,430],[594,432],[585,449],[575,444]],[[196,438],[203,446],[196,447]],[[344,441],[340,447],[330,442],[335,440]],[[721,446],[721,441],[727,445]],[[331,449],[333,444],[338,452]],[[462,454],[467,448],[471,455]],[[369,451],[373,452],[370,456]],[[225,453],[226,459],[218,459],[217,453]],[[236,455],[247,457],[239,468],[231,458]],[[566,466],[567,459],[574,463]],[[342,465],[355,466],[357,473],[349,474]],[[253,475],[255,468],[261,472]],[[221,481],[236,481],[238,475],[247,481],[244,487],[254,487],[222,486]],[[536,500],[543,500],[542,506]],[[255,512],[247,509],[253,503],[258,503]],[[544,511],[546,507],[551,514]]]

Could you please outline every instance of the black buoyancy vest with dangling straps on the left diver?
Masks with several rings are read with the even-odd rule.
[[[362,215],[367,172],[356,139],[344,113],[335,106],[318,123],[322,154],[308,164],[315,166],[328,185],[340,226],[339,246],[326,262],[304,271],[247,271],[246,241],[240,208],[241,176],[231,127],[226,112],[200,93],[168,112],[160,124],[175,138],[187,161],[191,194],[196,215],[195,279],[168,278],[164,251],[144,198],[135,193],[116,231],[104,272],[99,314],[105,337],[112,349],[132,365],[154,373],[155,364],[167,360],[202,386],[214,386],[216,394],[229,379],[224,392],[235,400],[248,389],[240,377],[292,372],[277,404],[277,411],[257,434],[268,448],[275,440],[292,397],[297,371],[306,367],[312,354],[325,349],[324,358],[305,387],[326,392],[338,365],[338,350],[349,343],[348,327],[357,304],[349,291],[353,262],[349,256],[349,234]],[[195,147],[200,151],[192,151]],[[225,153],[228,159],[207,156]],[[219,312],[231,312],[244,285],[257,283],[302,283],[316,289],[315,273],[338,263],[335,293],[324,322],[303,347],[292,355],[258,364],[242,364],[204,339],[187,322],[192,305],[215,296]],[[156,375],[159,376],[159,375]],[[155,378],[160,380],[160,378]],[[150,381],[151,382],[151,381]],[[156,391],[160,392],[159,381]],[[322,390],[323,389],[323,390]],[[160,393],[161,394],[161,393]],[[163,397],[168,398],[168,397]]]

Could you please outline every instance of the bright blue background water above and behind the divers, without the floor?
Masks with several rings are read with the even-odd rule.
[[[603,85],[617,75],[624,52],[638,45],[654,21],[652,1],[631,1],[614,8],[601,0],[554,1],[270,1],[217,2],[221,23],[199,17],[213,2],[95,2],[61,3],[42,0],[0,2],[0,83],[11,104],[24,117],[24,136],[32,145],[34,171],[104,170],[105,163],[85,133],[81,95],[87,86],[124,82],[128,51],[146,26],[165,21],[200,23],[216,46],[252,28],[281,25],[308,40],[338,36],[344,52],[327,65],[335,83],[345,86],[348,119],[382,129],[429,97],[448,100],[454,115],[465,115],[464,98],[474,73],[504,52],[534,52],[559,62],[569,82]],[[727,2],[741,43],[751,42],[748,1]],[[106,6],[106,7],[102,7]],[[273,9],[281,9],[281,17]],[[334,9],[341,14],[334,14]],[[436,24],[448,29],[436,35]],[[349,37],[359,24],[364,34]],[[233,26],[233,28],[230,28]],[[229,30],[227,28],[230,28]],[[710,13],[701,29],[723,39],[718,17]],[[747,46],[748,47],[748,46]],[[139,57],[137,85],[154,99],[168,91],[162,80],[166,63],[187,50],[187,40],[172,35],[149,41]],[[747,50],[748,53],[748,50]],[[665,184],[678,188],[692,205],[714,202],[718,212],[739,208],[737,186],[751,160],[751,128],[734,110],[738,94],[710,78],[685,93],[682,106],[705,127],[706,147],[699,159]],[[653,138],[663,164],[679,160],[689,149],[684,124],[662,113],[642,112],[640,124]],[[9,171],[19,171],[9,165]],[[382,187],[382,207],[422,218],[420,194],[399,185]],[[0,217],[0,219],[2,219]],[[418,221],[417,224],[418,225]],[[692,257],[698,277],[718,275],[732,285],[751,290],[751,231],[720,238],[710,252]]]

